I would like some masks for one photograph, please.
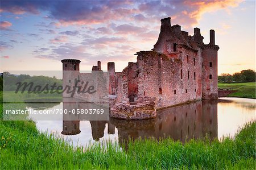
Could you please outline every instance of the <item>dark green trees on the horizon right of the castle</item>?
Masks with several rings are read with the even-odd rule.
[[[255,71],[247,69],[232,75],[229,73],[222,73],[221,76],[218,76],[218,82],[255,82]]]

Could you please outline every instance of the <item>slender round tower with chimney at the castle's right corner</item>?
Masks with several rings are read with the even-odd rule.
[[[210,43],[203,49],[203,99],[218,98],[218,45],[215,45],[215,32],[210,30]]]

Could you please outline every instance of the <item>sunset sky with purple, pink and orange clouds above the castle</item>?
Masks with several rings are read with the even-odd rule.
[[[0,72],[61,71],[62,59],[81,60],[90,71],[115,62],[121,72],[158,39],[160,19],[204,43],[215,30],[218,74],[255,70],[254,1],[0,1]]]

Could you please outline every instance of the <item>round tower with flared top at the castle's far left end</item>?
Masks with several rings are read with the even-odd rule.
[[[80,60],[74,60],[74,59],[64,59],[61,60],[61,63],[63,63],[63,90],[70,86],[71,88],[75,86],[75,81],[79,79],[79,64]],[[72,90],[72,89],[71,89]],[[63,97],[71,97],[71,94],[67,94],[67,90],[65,90],[62,93]]]

